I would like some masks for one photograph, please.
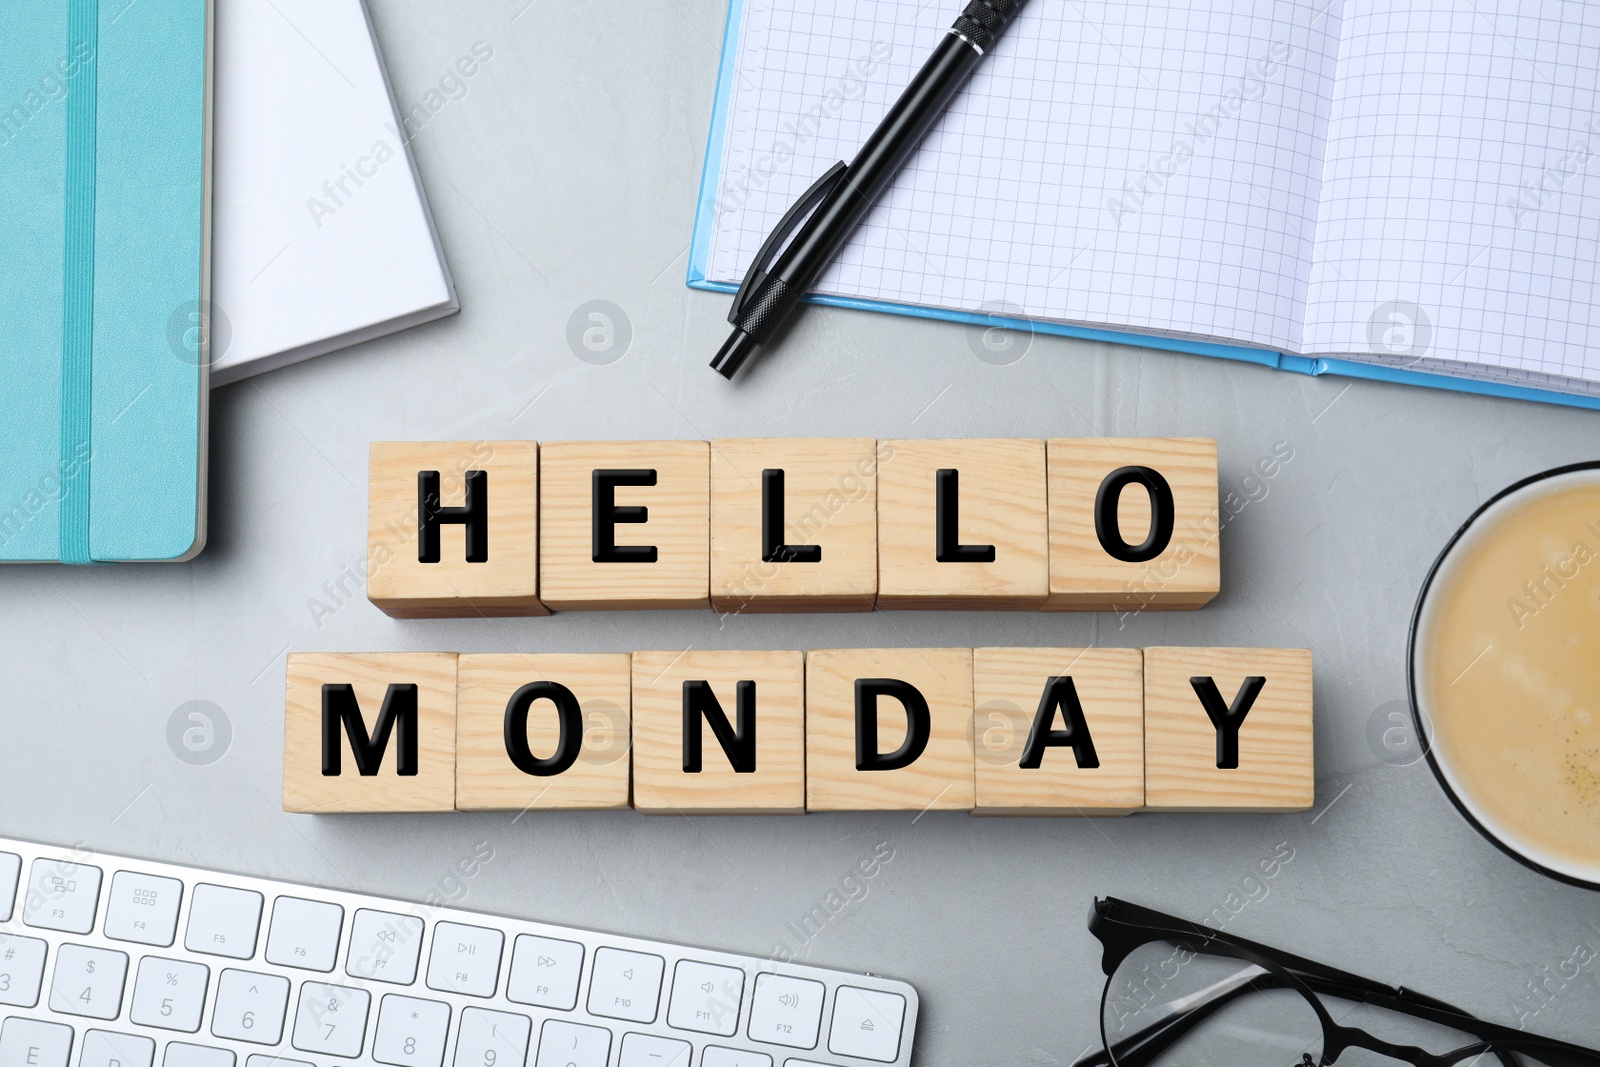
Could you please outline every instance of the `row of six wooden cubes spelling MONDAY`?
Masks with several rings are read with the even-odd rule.
[[[1310,653],[1275,648],[294,653],[283,736],[309,813],[1302,811],[1314,787]]]

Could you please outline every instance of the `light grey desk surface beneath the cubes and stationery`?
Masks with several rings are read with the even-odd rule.
[[[1426,765],[1386,761],[1418,584],[1454,526],[1534,470],[1592,459],[1600,416],[1310,379],[1037,338],[1010,366],[970,331],[813,309],[738,386],[706,360],[728,298],[683,285],[722,0],[374,0],[395,91],[421,99],[475,42],[493,59],[414,142],[459,317],[213,397],[211,542],[189,565],[0,574],[0,833],[421,897],[486,841],[464,905],[872,969],[923,995],[920,1062],[1062,1064],[1093,1040],[1096,894],[1232,913],[1229,929],[1488,1017],[1600,1043],[1600,896],[1502,856]],[[632,338],[573,355],[594,299]],[[1206,435],[1224,491],[1222,593],[1198,613],[568,614],[400,622],[352,573],[374,438]],[[1293,450],[1277,477],[1256,461]],[[318,606],[320,605],[320,606]],[[1315,651],[1317,806],[1112,821],[965,814],[634,813],[309,817],[278,808],[286,649],[1299,645]],[[168,720],[221,709],[221,758]],[[1376,728],[1374,728],[1376,720]],[[214,753],[213,752],[213,753]],[[894,857],[814,933],[858,859]],[[1293,851],[1275,878],[1259,861]],[[797,929],[802,931],[797,934]],[[1531,990],[1544,982],[1549,990]]]

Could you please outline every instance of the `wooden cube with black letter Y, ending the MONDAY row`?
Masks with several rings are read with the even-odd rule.
[[[1306,811],[1314,790],[1309,649],[1144,649],[1147,811]]]

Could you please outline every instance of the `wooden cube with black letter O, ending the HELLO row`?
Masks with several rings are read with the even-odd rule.
[[[1046,611],[1198,608],[1216,597],[1222,581],[1216,442],[1056,437],[1046,451]],[[1152,501],[1162,502],[1157,523]]]

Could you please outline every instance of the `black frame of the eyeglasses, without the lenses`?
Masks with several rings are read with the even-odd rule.
[[[1101,971],[1106,973],[1106,989],[1101,993],[1101,1041],[1104,1049],[1080,1059],[1074,1067],[1146,1067],[1170,1045],[1205,1022],[1213,1013],[1246,990],[1293,989],[1310,1005],[1322,1024],[1322,1059],[1328,1065],[1350,1048],[1365,1048],[1389,1056],[1413,1067],[1453,1067],[1469,1057],[1494,1054],[1506,1067],[1523,1067],[1518,1053],[1536,1056],[1547,1067],[1600,1067],[1600,1051],[1525,1033],[1512,1027],[1485,1022],[1403,985],[1384,985],[1373,979],[1341,971],[1307,960],[1272,945],[1211,929],[1198,923],[1165,915],[1154,909],[1130,904],[1117,897],[1096,897],[1090,910],[1090,933],[1099,939]],[[1112,992],[1117,968],[1139,947],[1154,942],[1170,942],[1192,952],[1230,957],[1262,968],[1264,974],[1194,1008],[1170,1016],[1117,1043],[1106,1033],[1106,1003]],[[1333,1021],[1322,997],[1334,997],[1357,1003],[1370,1003],[1397,1011],[1414,1019],[1435,1022],[1478,1038],[1477,1043],[1434,1054],[1414,1045],[1394,1045],[1358,1027],[1342,1027]],[[1115,1049],[1122,1049],[1120,1053]]]

